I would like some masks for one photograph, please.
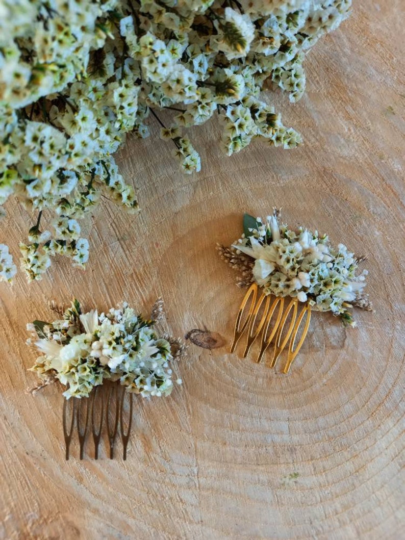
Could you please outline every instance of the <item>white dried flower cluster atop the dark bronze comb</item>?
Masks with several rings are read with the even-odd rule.
[[[75,300],[62,320],[27,325],[33,336],[29,343],[42,353],[31,371],[67,385],[67,398],[87,397],[105,379],[119,380],[144,397],[166,396],[173,388],[171,345],[153,324],[127,303],[98,315],[94,310],[82,314]]]

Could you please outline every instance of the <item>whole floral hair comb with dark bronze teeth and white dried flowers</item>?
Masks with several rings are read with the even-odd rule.
[[[151,319],[144,319],[124,302],[121,307],[111,308],[107,313],[98,314],[92,309],[83,313],[77,300],[65,311],[53,304],[53,309],[62,315],[62,319],[51,323],[33,321],[27,325],[32,337],[28,340],[41,353],[30,371],[39,375],[41,382],[31,390],[36,393],[40,388],[59,381],[66,390],[66,400],[70,398],[91,397],[86,403],[85,423],[83,424],[82,406],[73,400],[71,427],[67,426],[66,400],[63,409],[63,424],[66,441],[66,459],[69,458],[69,446],[73,433],[75,416],[80,442],[80,458],[83,457],[89,411],[95,439],[95,454],[98,456],[98,444],[103,425],[104,399],[99,427],[95,426],[96,389],[105,381],[116,382],[109,386],[106,421],[110,439],[110,457],[118,430],[120,416],[121,435],[124,443],[124,458],[129,440],[132,420],[132,394],[143,397],[167,396],[173,389],[173,371],[171,362],[181,356],[184,346],[178,339],[167,334],[159,335],[156,324],[163,319],[163,302],[155,304]],[[181,384],[181,379],[176,380]],[[120,391],[124,387],[126,392]],[[124,394],[130,394],[130,419],[127,433],[123,428]],[[83,400],[81,400],[83,401]],[[80,402],[81,402],[80,401]],[[87,400],[84,400],[87,401]],[[110,410],[111,409],[111,410]],[[115,411],[115,424],[111,427],[111,411]],[[98,437],[98,441],[97,441]],[[96,444],[97,442],[97,444]]]

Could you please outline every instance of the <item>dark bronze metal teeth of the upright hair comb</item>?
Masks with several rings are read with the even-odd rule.
[[[72,397],[63,402],[63,435],[65,438],[65,458],[69,460],[70,446],[76,430],[79,441],[79,458],[83,460],[85,444],[89,433],[89,420],[94,443],[94,458],[98,460],[99,446],[103,437],[103,427],[106,425],[106,438],[108,440],[109,457],[114,457],[114,448],[117,442],[118,426],[123,443],[123,459],[127,457],[127,447],[131,435],[133,396],[128,393],[129,412],[125,412],[125,395],[119,383],[109,388],[96,387],[88,398]],[[104,421],[105,417],[105,421]],[[124,420],[125,419],[125,420]],[[125,433],[126,424],[126,433]]]

